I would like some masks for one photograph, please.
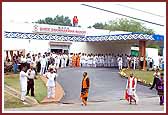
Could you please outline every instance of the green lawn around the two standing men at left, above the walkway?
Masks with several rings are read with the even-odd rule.
[[[5,75],[4,83],[20,91],[19,74]],[[35,79],[35,99],[40,103],[46,96],[46,85],[40,77],[37,77]]]

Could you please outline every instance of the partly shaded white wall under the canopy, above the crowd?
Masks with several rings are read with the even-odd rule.
[[[70,47],[70,53],[114,53],[114,54],[130,54],[131,43],[126,41],[113,42],[73,42]]]

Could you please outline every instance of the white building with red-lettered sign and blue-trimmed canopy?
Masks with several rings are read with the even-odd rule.
[[[23,49],[25,53],[54,51],[117,55],[130,54],[131,46],[138,45],[140,56],[145,56],[147,44],[155,43],[161,47],[164,44],[162,35],[33,23],[8,23],[3,25],[3,32],[4,51]]]

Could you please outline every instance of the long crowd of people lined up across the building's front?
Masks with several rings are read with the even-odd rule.
[[[37,73],[43,75],[50,65],[55,68],[66,67],[105,67],[105,68],[123,68],[142,69],[144,57],[131,56],[127,54],[86,54],[86,53],[55,53],[45,52],[38,54],[23,55],[20,52],[19,55],[14,54],[12,59],[5,61],[5,72],[18,70],[26,65],[30,68],[30,64],[33,64],[34,70]],[[146,66],[149,69],[153,69],[154,61],[152,58],[146,58]]]

